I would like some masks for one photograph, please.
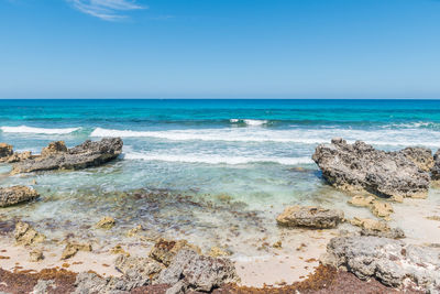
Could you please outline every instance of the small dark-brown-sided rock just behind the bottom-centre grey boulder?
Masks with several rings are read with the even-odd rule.
[[[186,240],[173,241],[161,238],[150,251],[150,257],[168,266],[182,249],[191,249],[199,254],[201,253],[200,248],[188,243]]]

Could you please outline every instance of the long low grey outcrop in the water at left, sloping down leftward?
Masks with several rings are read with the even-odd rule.
[[[15,163],[11,174],[98,166],[118,157],[122,144],[120,138],[105,138],[97,142],[87,140],[72,149],[65,149],[64,142],[52,142],[43,149],[41,156]]]

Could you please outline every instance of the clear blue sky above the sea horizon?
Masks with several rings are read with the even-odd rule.
[[[440,0],[0,0],[0,98],[440,99]]]

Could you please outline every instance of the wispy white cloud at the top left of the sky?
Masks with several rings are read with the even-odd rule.
[[[106,21],[128,18],[129,11],[147,9],[136,0],[68,0],[77,10]]]

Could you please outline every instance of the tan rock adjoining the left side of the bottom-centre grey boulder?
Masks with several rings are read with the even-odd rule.
[[[165,265],[151,258],[121,254],[114,261],[114,268],[123,274],[125,280],[146,285],[165,269]]]

